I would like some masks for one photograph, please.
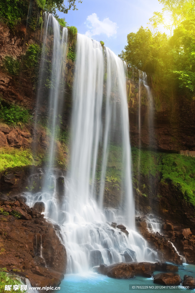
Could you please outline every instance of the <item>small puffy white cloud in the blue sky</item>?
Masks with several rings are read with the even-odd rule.
[[[89,30],[85,33],[88,37],[94,35],[105,34],[107,37],[111,37],[116,34],[118,28],[115,22],[112,22],[109,18],[105,18],[103,21],[100,21],[96,13],[92,13],[87,17]]]

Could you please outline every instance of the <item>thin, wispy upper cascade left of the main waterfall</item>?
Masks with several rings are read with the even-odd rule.
[[[61,118],[61,109],[63,106],[63,92],[65,84],[65,55],[67,51],[68,41],[68,29],[61,27],[51,14],[44,12],[43,15],[44,27],[43,27],[43,46],[42,46],[42,58],[40,63],[39,72],[39,84],[38,84],[38,95],[37,105],[35,113],[35,128],[37,125],[37,119],[39,116],[39,110],[42,108],[45,100],[43,99],[43,90],[45,90],[45,74],[48,71],[48,52],[52,47],[51,54],[51,75],[49,78],[49,102],[48,102],[48,121],[47,127],[50,129],[50,147],[49,147],[49,163],[50,168],[53,164],[54,159],[54,139],[56,131],[58,130],[58,124]],[[50,47],[50,48],[49,48]]]

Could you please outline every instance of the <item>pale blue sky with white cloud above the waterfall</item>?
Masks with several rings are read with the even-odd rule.
[[[154,11],[161,11],[158,0],[83,0],[77,11],[70,10],[65,17],[78,33],[103,41],[115,54],[127,44],[127,34],[147,26]]]

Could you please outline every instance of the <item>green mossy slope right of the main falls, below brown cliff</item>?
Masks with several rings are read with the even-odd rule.
[[[132,161],[135,183],[139,166],[139,149],[135,147],[132,147]],[[140,150],[140,174],[145,177],[158,176],[163,184],[171,180],[180,188],[185,200],[195,206],[195,158]]]

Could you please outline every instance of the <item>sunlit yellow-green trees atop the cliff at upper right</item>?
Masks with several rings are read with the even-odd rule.
[[[162,13],[154,12],[150,28],[141,26],[137,33],[128,34],[128,45],[119,56],[128,67],[136,67],[152,76],[154,96],[173,100],[182,95],[193,100],[195,1],[158,1],[163,5]],[[158,31],[158,25],[162,24],[170,36]]]

